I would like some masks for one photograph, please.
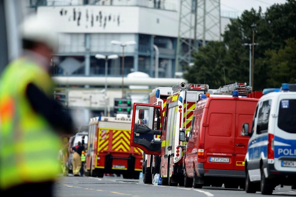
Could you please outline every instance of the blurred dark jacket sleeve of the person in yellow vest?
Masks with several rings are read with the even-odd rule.
[[[32,83],[27,86],[26,96],[32,108],[42,114],[55,129],[73,133],[71,116],[65,112],[62,105],[56,100],[47,97],[44,92]]]

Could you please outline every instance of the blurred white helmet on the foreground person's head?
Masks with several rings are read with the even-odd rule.
[[[52,48],[57,49],[57,23],[47,15],[32,15],[25,18],[20,27],[22,39],[41,42]]]

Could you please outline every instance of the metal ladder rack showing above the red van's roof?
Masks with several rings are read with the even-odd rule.
[[[252,88],[250,86],[247,86],[247,83],[234,83],[218,88],[215,94],[232,95],[232,92],[234,90],[237,90],[240,96],[246,96],[252,91]]]

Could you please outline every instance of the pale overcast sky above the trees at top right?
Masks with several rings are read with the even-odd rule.
[[[252,7],[255,10],[261,6],[262,11],[265,12],[266,8],[272,4],[283,4],[286,0],[221,0],[221,11],[234,11],[242,14],[244,10],[250,10]]]

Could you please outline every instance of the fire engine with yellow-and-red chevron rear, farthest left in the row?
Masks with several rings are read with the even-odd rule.
[[[115,173],[139,179],[143,154],[139,148],[129,146],[130,135],[131,118],[127,116],[91,118],[85,174],[103,177],[104,173]]]

